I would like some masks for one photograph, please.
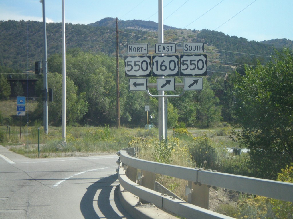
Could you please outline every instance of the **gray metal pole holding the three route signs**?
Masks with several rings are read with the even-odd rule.
[[[159,14],[159,29],[158,29],[158,36],[159,40],[158,43],[164,43],[164,29],[163,29],[163,0],[158,0],[158,14]],[[163,54],[162,54],[163,55]],[[164,91],[159,91],[159,95],[164,95]],[[164,98],[159,97],[159,140],[165,139],[165,118],[164,118]]]

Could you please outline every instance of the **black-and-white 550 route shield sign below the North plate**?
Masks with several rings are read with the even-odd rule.
[[[150,77],[151,56],[125,56],[126,77]]]

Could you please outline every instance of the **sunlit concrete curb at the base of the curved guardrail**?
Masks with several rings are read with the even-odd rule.
[[[139,197],[124,190],[121,185],[119,185],[119,199],[123,208],[134,219],[178,219],[154,205],[137,205]]]

